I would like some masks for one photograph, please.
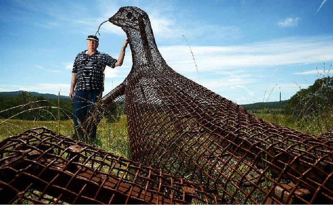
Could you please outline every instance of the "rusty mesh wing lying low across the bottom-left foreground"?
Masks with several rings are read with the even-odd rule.
[[[0,144],[0,203],[208,203],[212,191],[35,128]]]

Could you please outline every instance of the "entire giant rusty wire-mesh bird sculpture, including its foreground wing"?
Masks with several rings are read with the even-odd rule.
[[[125,104],[133,159],[31,130],[0,144],[0,194],[6,196],[0,199],[333,203],[331,132],[315,136],[258,119],[178,74],[158,51],[141,9],[122,7],[109,21],[129,37],[132,70],[100,100],[83,127],[91,129],[109,110]]]

